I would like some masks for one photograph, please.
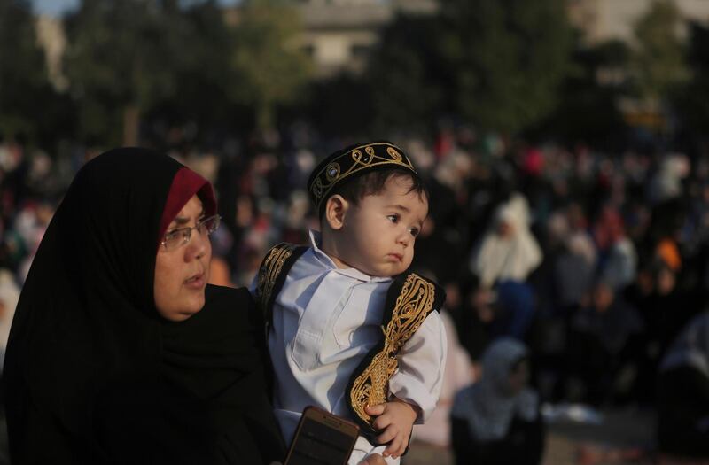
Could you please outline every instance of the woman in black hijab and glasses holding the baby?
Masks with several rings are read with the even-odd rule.
[[[4,365],[12,462],[269,463],[284,446],[248,292],[206,285],[211,185],[144,149],[76,175]]]

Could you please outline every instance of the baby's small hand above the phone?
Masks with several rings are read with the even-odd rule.
[[[376,430],[384,431],[378,436],[378,443],[386,444],[391,441],[382,455],[391,455],[395,459],[404,453],[406,446],[409,446],[411,428],[418,415],[417,407],[394,398],[391,402],[365,407],[364,411],[367,415],[378,417],[372,423]]]

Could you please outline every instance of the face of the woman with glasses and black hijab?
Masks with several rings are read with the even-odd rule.
[[[192,196],[167,232],[194,227],[204,214],[202,202],[196,195]],[[209,236],[199,234],[198,229],[192,229],[190,242],[174,250],[158,247],[153,294],[160,316],[171,322],[182,322],[202,309],[211,259]]]

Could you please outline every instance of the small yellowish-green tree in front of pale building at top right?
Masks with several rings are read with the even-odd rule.
[[[688,76],[684,45],[678,34],[680,11],[674,2],[654,0],[635,24],[633,75],[640,97],[666,100]]]

